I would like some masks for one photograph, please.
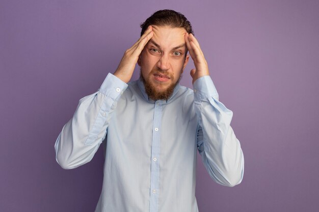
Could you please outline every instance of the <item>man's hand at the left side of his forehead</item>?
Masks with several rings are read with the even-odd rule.
[[[138,61],[144,46],[153,37],[152,26],[149,26],[141,38],[124,53],[120,65],[117,67],[114,75],[121,79],[123,82],[129,82],[134,72],[135,65]]]

